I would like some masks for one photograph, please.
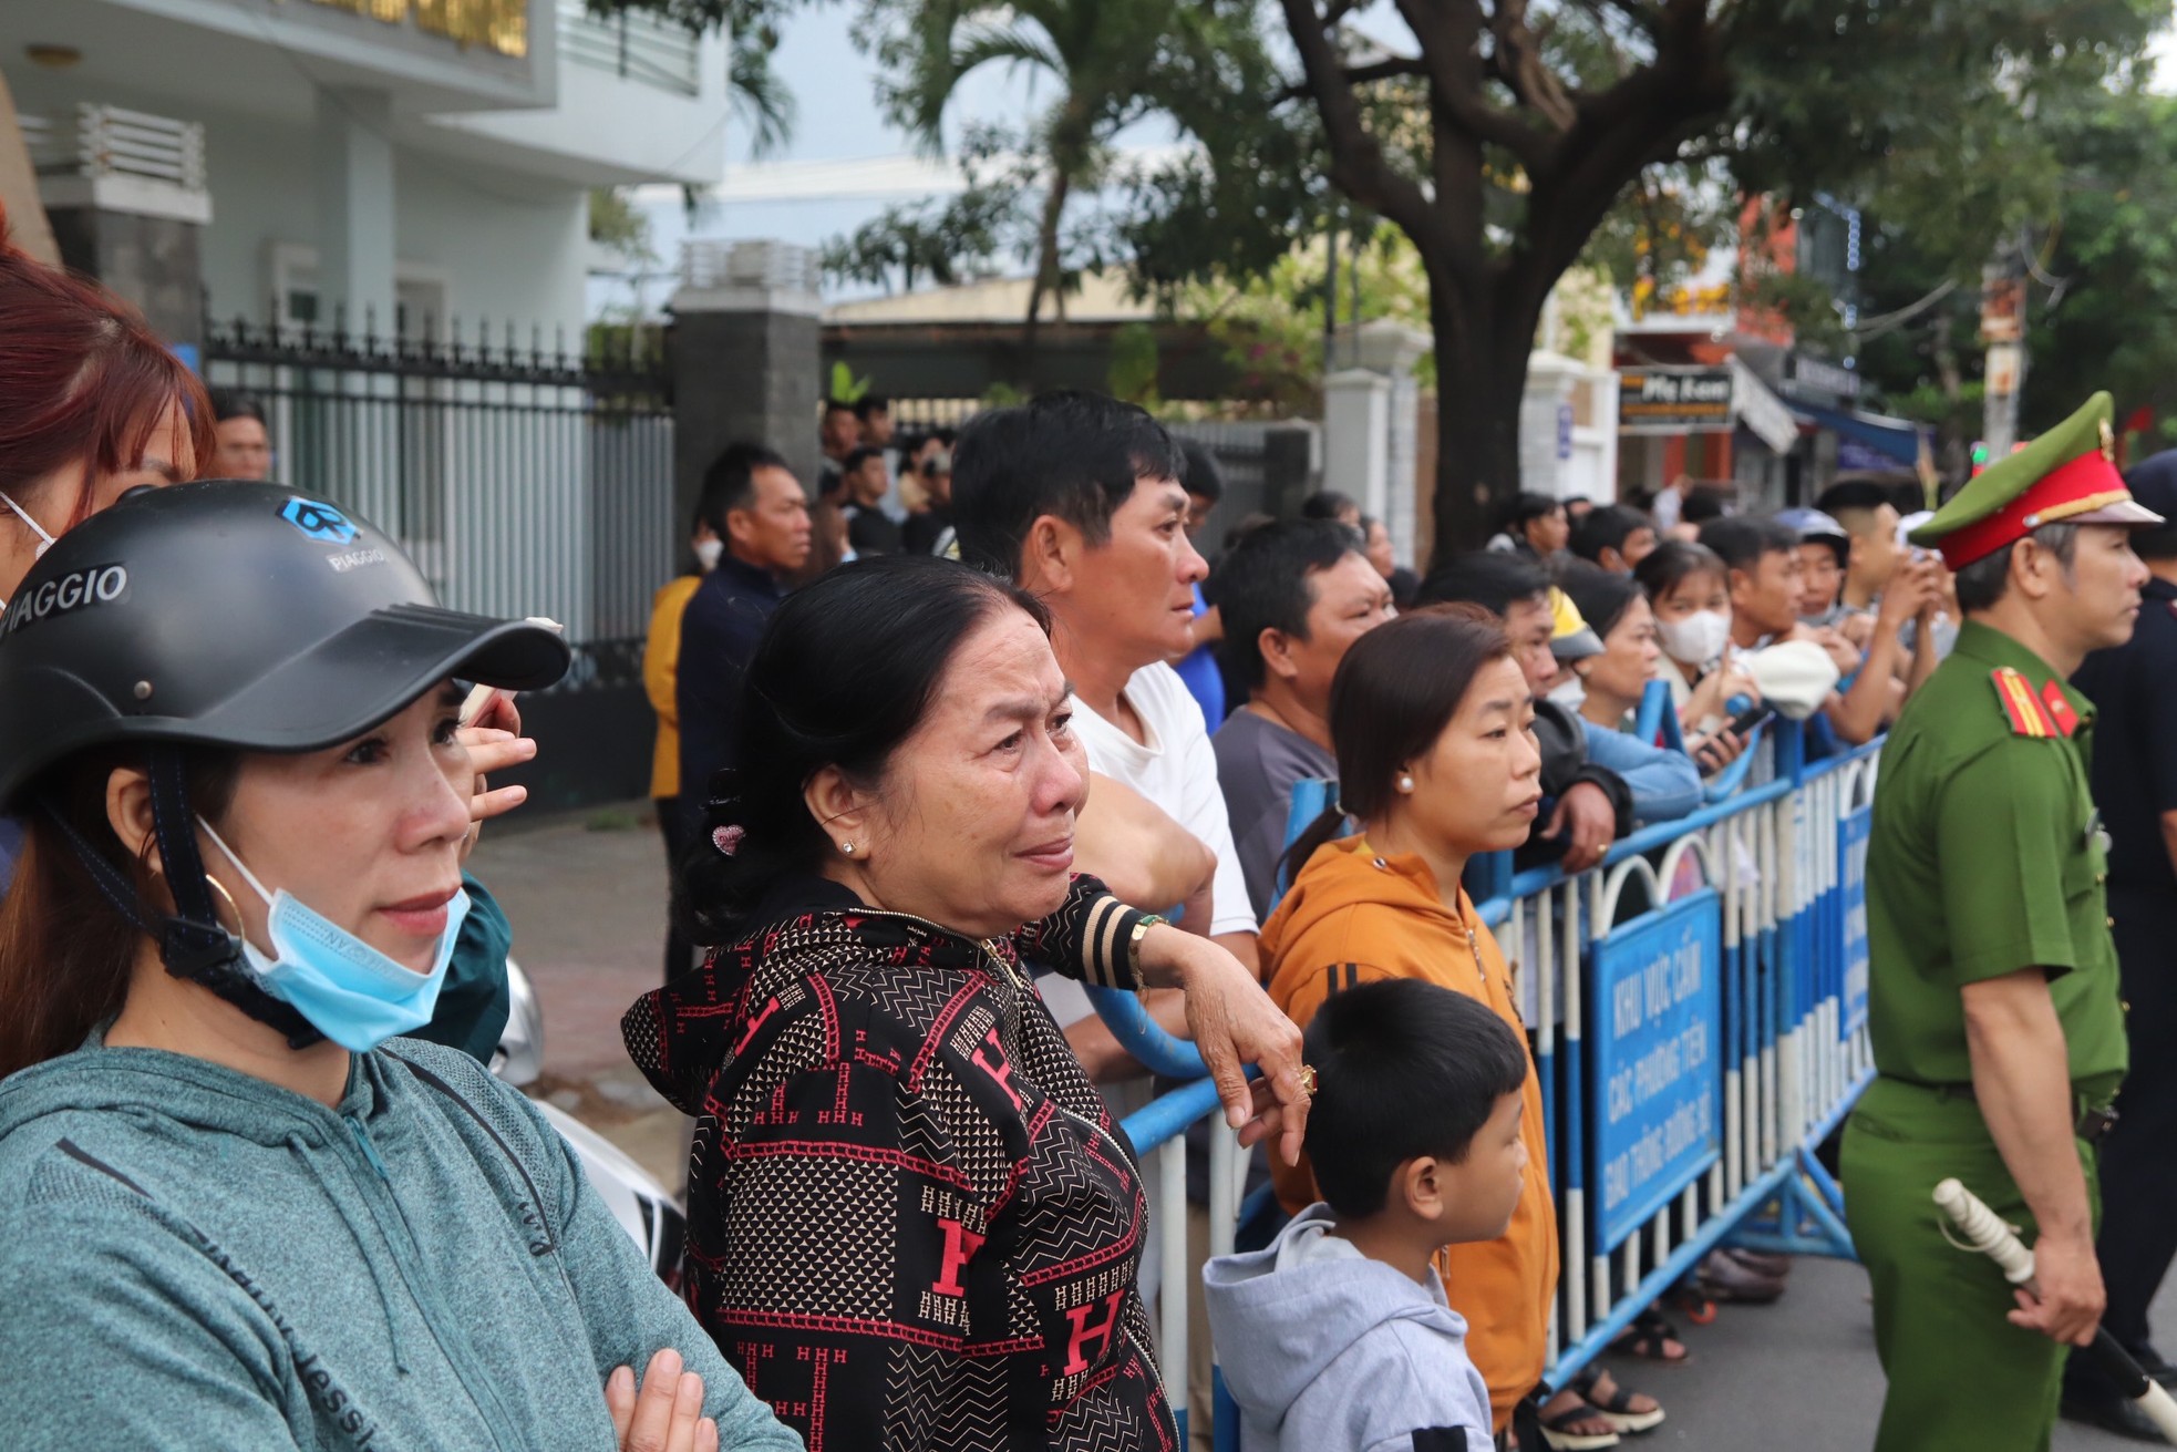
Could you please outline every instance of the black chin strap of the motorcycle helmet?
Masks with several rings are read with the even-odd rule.
[[[172,916],[146,906],[137,897],[135,884],[67,825],[67,816],[54,801],[48,799],[44,808],[67,836],[76,858],[107,901],[144,934],[159,940],[159,960],[168,973],[209,988],[259,1023],[279,1030],[287,1036],[290,1049],[307,1049],[324,1038],[292,1004],[257,986],[257,977],[242,967],[239,943],[220,927],[205,877],[205,860],[196,851],[196,814],[189,810],[181,747],[168,742],[150,747],[150,803],[159,860],[165,864],[168,890],[174,895]]]

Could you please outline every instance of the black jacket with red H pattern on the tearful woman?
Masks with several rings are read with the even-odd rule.
[[[1139,914],[1075,877],[975,943],[790,897],[620,1023],[697,1117],[697,1319],[810,1452],[1178,1452],[1134,1152],[1021,967],[1134,988]]]

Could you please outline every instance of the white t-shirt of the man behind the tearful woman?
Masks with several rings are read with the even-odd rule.
[[[1226,816],[1223,792],[1217,790],[1217,751],[1202,723],[1202,707],[1180,673],[1165,664],[1136,670],[1126,684],[1126,701],[1141,716],[1145,742],[1084,703],[1073,703],[1073,729],[1088,747],[1088,766],[1132,786],[1217,853],[1210,932],[1254,932],[1247,875],[1232,847],[1232,819]]]

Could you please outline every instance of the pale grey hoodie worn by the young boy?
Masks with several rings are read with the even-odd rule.
[[[1265,1250],[1202,1267],[1241,1452],[1483,1452],[1489,1389],[1443,1282],[1330,1234],[1313,1204]]]

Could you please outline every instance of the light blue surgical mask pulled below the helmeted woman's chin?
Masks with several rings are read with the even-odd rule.
[[[242,938],[242,956],[266,993],[292,1004],[311,1028],[355,1054],[368,1054],[431,1021],[438,990],[446,982],[446,962],[462,936],[462,919],[468,916],[468,893],[457,890],[446,903],[446,927],[431,956],[431,971],[418,973],[303,906],[287,888],[266,893],[211,823],[198,819],[196,825],[270,908],[266,936],[272,938],[272,953]]]

